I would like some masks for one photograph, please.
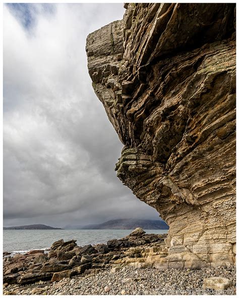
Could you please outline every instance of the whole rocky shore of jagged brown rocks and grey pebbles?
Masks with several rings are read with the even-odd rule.
[[[156,268],[154,258],[165,255],[165,238],[166,234],[145,234],[137,228],[107,244],[80,247],[75,240],[59,240],[47,254],[41,250],[5,253],[3,293],[235,294],[234,266]]]

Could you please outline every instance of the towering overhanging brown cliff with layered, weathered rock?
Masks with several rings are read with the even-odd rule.
[[[159,268],[234,264],[235,5],[125,8],[86,45],[117,176],[169,225]]]

